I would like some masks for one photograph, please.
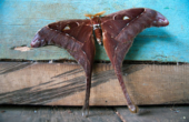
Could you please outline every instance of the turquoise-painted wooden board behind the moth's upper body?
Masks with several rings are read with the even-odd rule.
[[[66,19],[84,19],[84,13],[107,11],[106,14],[133,7],[160,11],[170,21],[166,28],[151,28],[135,40],[126,60],[189,62],[188,0],[1,0],[0,59],[51,60],[72,59],[59,48],[46,47],[28,52],[12,47],[30,45],[34,33],[46,24]],[[181,18],[181,19],[180,19]],[[109,60],[102,45],[97,44],[96,60]]]

